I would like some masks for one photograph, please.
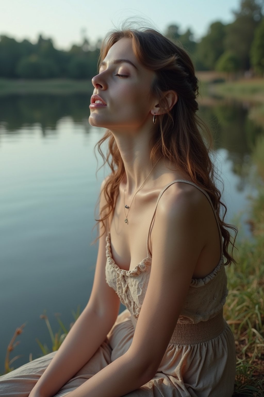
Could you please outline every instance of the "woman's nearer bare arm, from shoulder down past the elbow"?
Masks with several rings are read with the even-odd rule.
[[[155,376],[205,243],[201,195],[184,188],[164,192],[152,231],[150,279],[132,344],[69,397],[120,397]]]

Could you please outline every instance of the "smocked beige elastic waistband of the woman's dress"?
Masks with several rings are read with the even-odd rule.
[[[136,321],[131,316],[134,327]],[[177,324],[169,345],[193,345],[209,341],[224,331],[226,322],[223,318],[223,309],[213,318],[207,321],[200,321],[196,324]]]

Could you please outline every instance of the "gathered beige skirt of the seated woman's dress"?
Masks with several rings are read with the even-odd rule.
[[[66,396],[123,355],[131,345],[134,331],[131,314],[128,310],[124,310],[93,357],[54,397]],[[44,357],[36,358],[1,376],[0,396],[28,397],[56,354],[57,351],[54,351]],[[234,337],[225,322],[224,330],[213,339],[194,344],[170,344],[156,376],[126,396],[231,397],[234,391],[235,373]]]

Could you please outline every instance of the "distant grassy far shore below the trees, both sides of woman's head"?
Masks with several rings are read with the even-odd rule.
[[[252,104],[249,117],[264,126],[264,79],[239,79],[213,83],[224,80],[225,75],[214,71],[198,71],[197,75],[201,81],[199,102],[213,106],[215,104],[213,96],[246,100]],[[92,92],[91,79],[0,79],[0,96],[8,94],[91,94]]]

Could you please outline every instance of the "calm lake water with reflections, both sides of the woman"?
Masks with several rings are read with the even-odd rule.
[[[51,349],[43,310],[54,332],[68,328],[91,292],[97,245],[94,211],[107,170],[95,176],[89,95],[0,97],[0,373],[15,329],[26,322],[10,358],[18,366],[41,355],[35,338]],[[249,235],[248,196],[254,195],[250,152],[261,128],[247,107],[230,102],[201,107],[214,131],[216,164],[224,181],[226,222],[242,214]],[[99,165],[102,164],[98,154]],[[221,185],[219,185],[221,188]]]

